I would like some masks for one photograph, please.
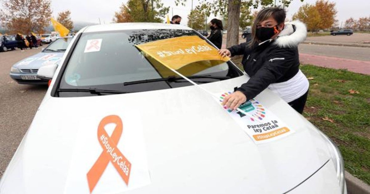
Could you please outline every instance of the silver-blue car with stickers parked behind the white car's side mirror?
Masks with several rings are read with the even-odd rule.
[[[57,64],[63,57],[72,38],[58,38],[38,54],[27,57],[10,69],[10,77],[18,84],[48,84],[37,78],[37,71],[43,65]]]

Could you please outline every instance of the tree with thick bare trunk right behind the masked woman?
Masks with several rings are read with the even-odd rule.
[[[279,0],[283,6],[289,6],[293,0]],[[300,0],[303,1],[303,0]],[[176,5],[185,5],[186,0],[175,0]],[[220,14],[222,17],[227,15],[227,41],[226,46],[232,46],[239,42],[239,19],[240,8],[247,7],[258,8],[259,6],[267,7],[272,6],[274,0],[202,0],[197,8],[204,10],[207,17],[212,13],[214,15]]]

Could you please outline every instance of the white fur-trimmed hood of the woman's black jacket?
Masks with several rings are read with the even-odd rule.
[[[306,25],[298,20],[285,23],[284,29],[275,39],[274,44],[281,48],[297,47],[299,43],[306,40]]]

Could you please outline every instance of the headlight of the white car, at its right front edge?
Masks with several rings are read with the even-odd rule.
[[[345,184],[345,180],[344,180],[344,163],[343,163],[342,154],[340,154],[340,151],[339,151],[338,147],[335,145],[335,143],[331,139],[329,139],[329,137],[327,137],[319,129],[317,129],[317,131],[326,140],[326,142],[328,144],[328,148],[330,150],[331,159],[333,161],[334,168],[335,168],[335,170],[337,172],[337,178],[338,178],[338,181],[339,181],[339,186],[340,186],[340,189],[342,191],[341,193],[342,194],[347,193],[347,191],[345,191],[346,184]]]

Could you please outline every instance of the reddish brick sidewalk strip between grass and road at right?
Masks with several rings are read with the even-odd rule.
[[[370,61],[358,61],[320,55],[299,54],[301,64],[312,64],[333,69],[347,69],[348,71],[370,75]]]

